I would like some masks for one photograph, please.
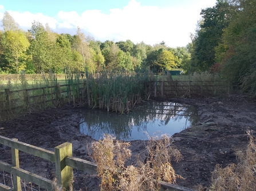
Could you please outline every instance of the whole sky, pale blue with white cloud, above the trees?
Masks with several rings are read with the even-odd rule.
[[[216,0],[0,0],[0,19],[5,11],[23,30],[33,21],[48,23],[54,32],[76,34],[96,40],[131,40],[169,47],[191,42],[201,9]],[[0,28],[2,29],[2,28]]]

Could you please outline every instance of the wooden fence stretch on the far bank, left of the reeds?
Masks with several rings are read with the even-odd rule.
[[[0,92],[0,121],[49,106],[61,107],[63,104],[84,99],[83,83],[65,84],[26,90],[5,89]]]

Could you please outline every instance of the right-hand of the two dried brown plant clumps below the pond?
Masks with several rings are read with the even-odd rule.
[[[145,164],[140,164],[141,172],[143,172],[145,180],[141,181],[143,189],[152,189],[152,183],[156,190],[160,188],[159,181],[166,181],[170,183],[176,183],[176,178],[183,178],[178,174],[175,174],[175,170],[172,168],[171,160],[174,158],[178,162],[182,155],[179,150],[172,146],[173,139],[171,136],[166,134],[159,136],[149,137],[147,144],[147,159]],[[152,182],[152,179],[156,180]],[[148,186],[150,186],[148,188]]]

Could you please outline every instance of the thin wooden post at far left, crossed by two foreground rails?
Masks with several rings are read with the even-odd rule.
[[[13,139],[17,141],[18,139]],[[11,148],[11,163],[19,168],[19,150]],[[21,178],[13,174],[13,190],[21,191]]]

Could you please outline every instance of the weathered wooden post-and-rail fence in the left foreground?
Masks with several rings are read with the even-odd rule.
[[[96,174],[97,165],[94,162],[78,159],[72,157],[72,144],[64,143],[55,147],[54,152],[35,147],[33,145],[25,144],[17,139],[9,139],[0,136],[0,144],[11,147],[11,161],[12,164],[0,161],[0,169],[13,174],[13,190],[21,191],[20,178],[29,180],[34,184],[41,186],[48,190],[54,190],[54,186],[58,188],[69,190],[70,181],[73,181],[73,168],[84,170],[88,173]],[[29,153],[30,155],[38,156],[42,159],[55,162],[56,164],[56,179],[57,182],[48,180],[47,178],[38,176],[37,174],[28,172],[27,170],[19,168],[18,151]],[[9,186],[0,184],[0,190],[10,190]]]

